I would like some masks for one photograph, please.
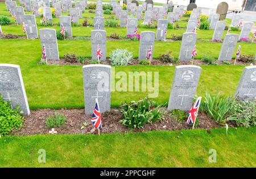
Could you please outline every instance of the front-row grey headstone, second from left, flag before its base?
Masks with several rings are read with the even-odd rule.
[[[82,72],[85,114],[89,115],[93,113],[96,98],[101,114],[110,111],[111,66],[84,65]]]

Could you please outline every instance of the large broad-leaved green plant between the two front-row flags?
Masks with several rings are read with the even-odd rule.
[[[119,122],[129,128],[143,128],[146,123],[163,120],[163,110],[160,106],[152,109],[153,105],[154,102],[148,98],[137,102],[123,103],[121,109],[123,119],[119,120]]]

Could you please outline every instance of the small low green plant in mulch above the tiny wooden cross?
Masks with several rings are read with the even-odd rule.
[[[55,128],[63,126],[63,124],[67,121],[67,118],[63,114],[55,113],[55,115],[51,115],[46,119],[46,127],[47,128]]]

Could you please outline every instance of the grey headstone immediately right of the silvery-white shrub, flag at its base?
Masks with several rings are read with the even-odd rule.
[[[141,40],[139,41],[139,60],[147,59],[147,53],[152,46],[152,56],[155,45],[155,32],[141,32]]]

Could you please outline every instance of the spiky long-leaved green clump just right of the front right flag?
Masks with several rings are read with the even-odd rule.
[[[225,123],[230,110],[232,110],[233,103],[234,98],[232,97],[224,97],[219,93],[215,95],[206,93],[199,110],[207,113],[216,122]]]

